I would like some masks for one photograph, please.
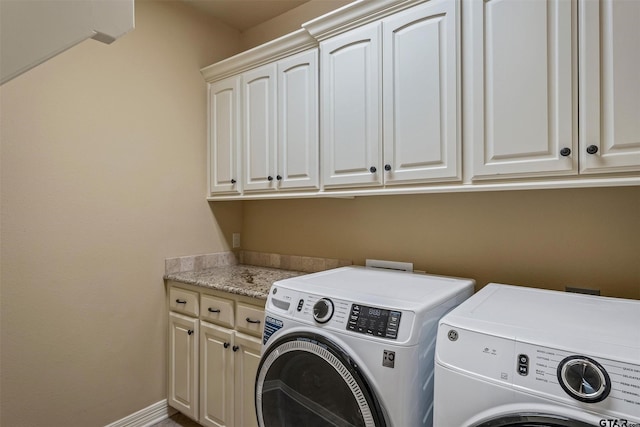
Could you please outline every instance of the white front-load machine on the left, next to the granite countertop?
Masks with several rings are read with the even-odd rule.
[[[438,320],[473,280],[343,267],[276,282],[256,378],[260,426],[431,426]]]

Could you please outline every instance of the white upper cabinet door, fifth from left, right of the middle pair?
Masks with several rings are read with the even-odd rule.
[[[460,179],[455,0],[383,21],[385,184]]]

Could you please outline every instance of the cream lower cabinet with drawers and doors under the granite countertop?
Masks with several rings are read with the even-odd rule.
[[[184,292],[199,296],[200,310],[175,302]],[[169,405],[204,426],[256,426],[264,309],[205,292],[169,288]]]

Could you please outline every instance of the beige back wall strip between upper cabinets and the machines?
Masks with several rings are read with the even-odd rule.
[[[640,187],[245,202],[242,246],[640,299]]]

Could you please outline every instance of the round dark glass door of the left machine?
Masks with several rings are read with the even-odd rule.
[[[317,334],[285,335],[263,354],[256,378],[263,427],[383,427],[366,378],[338,345]]]

